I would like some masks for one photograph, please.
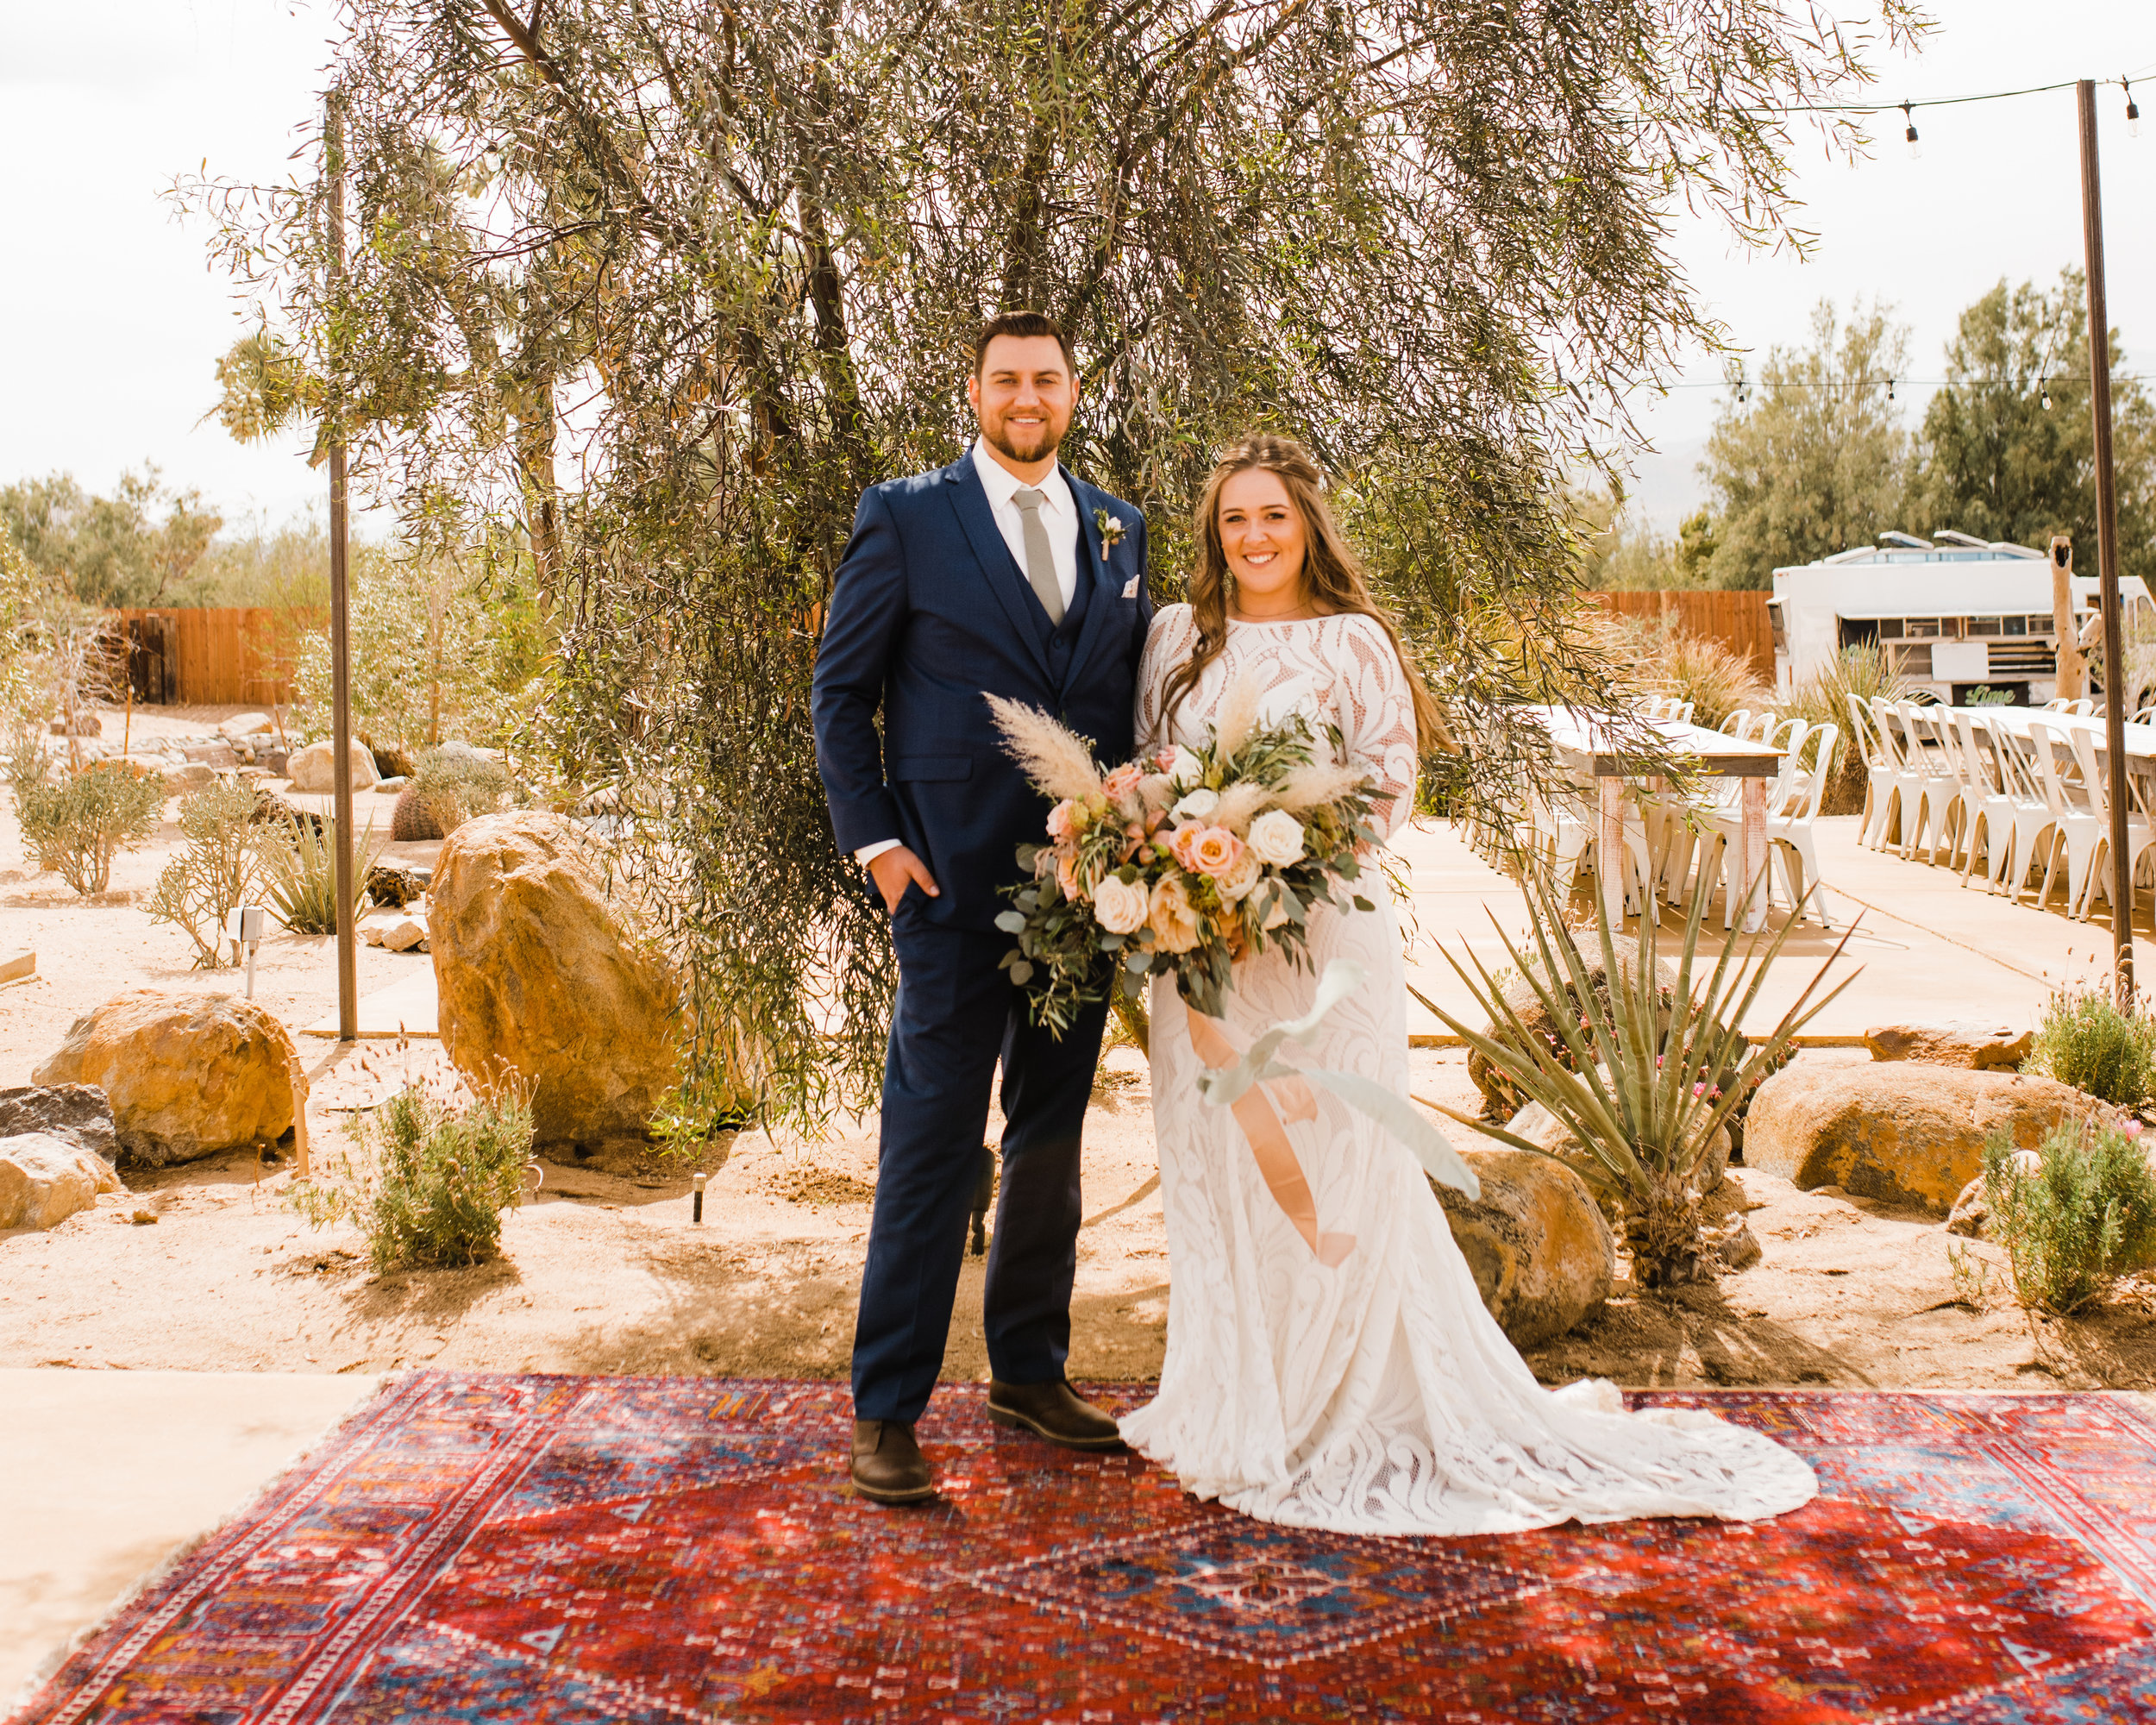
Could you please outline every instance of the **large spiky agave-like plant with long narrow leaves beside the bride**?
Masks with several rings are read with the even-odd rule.
[[[1520,1095],[1539,1102],[1578,1138],[1585,1158],[1552,1160],[1565,1160],[1565,1167],[1613,1199],[1632,1253],[1632,1276],[1641,1285],[1660,1287],[1712,1274],[1712,1255],[1701,1238],[1699,1192],[1701,1169],[1716,1143],[1716,1130],[1785,1061],[1796,1033],[1856,981],[1854,975],[1846,977],[1807,1007],[1850,936],[1841,936],[1841,944],[1766,1041],[1749,1044],[1740,1029],[1744,1013],[1759,998],[1768,968],[1789,938],[1796,916],[1779,929],[1753,934],[1742,953],[1736,938],[1725,940],[1714,968],[1695,990],[1708,895],[1695,891],[1684,921],[1675,983],[1662,985],[1656,919],[1639,919],[1636,962],[1626,966],[1611,936],[1608,908],[1598,893],[1595,925],[1606,985],[1595,985],[1548,880],[1529,871],[1522,886],[1533,953],[1514,944],[1503,929],[1498,940],[1511,968],[1526,977],[1542,1016],[1554,1026],[1552,1033],[1526,1024],[1520,1009],[1505,998],[1498,977],[1473,953],[1464,966],[1440,947],[1475,996],[1475,1005],[1488,1013],[1488,1031],[1462,1024],[1412,985],[1410,992],[1453,1035],[1479,1050]],[[1442,1113],[1514,1149],[1550,1154],[1492,1121],[1470,1119],[1453,1108]]]

